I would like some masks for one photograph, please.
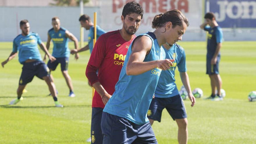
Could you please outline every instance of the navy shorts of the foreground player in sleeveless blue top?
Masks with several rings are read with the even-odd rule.
[[[149,122],[136,125],[125,118],[103,112],[101,129],[104,144],[157,144]]]

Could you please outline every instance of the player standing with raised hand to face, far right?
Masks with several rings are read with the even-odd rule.
[[[200,28],[208,31],[206,74],[209,74],[209,77],[211,79],[211,96],[208,97],[208,99],[217,101],[223,100],[223,97],[221,97],[222,80],[219,74],[219,63],[221,60],[220,49],[222,47],[223,33],[221,27],[216,22],[214,13],[209,12],[205,14],[205,22],[200,25]],[[217,97],[215,95],[216,87]]]

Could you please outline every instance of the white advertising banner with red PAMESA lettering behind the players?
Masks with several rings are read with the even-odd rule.
[[[102,0],[100,3],[101,27],[106,31],[122,28],[122,9],[131,0]],[[155,15],[178,9],[189,19],[187,31],[199,29],[202,21],[202,0],[135,0],[144,10],[143,19],[137,35],[152,31],[151,22]]]

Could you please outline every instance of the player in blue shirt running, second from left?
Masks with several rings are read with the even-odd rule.
[[[67,29],[60,26],[60,19],[58,17],[53,17],[51,19],[51,25],[53,28],[51,28],[48,31],[48,39],[46,48],[49,49],[50,42],[52,40],[53,42],[53,51],[52,56],[56,58],[56,61],[51,62],[50,60],[47,63],[47,66],[51,71],[54,71],[58,64],[61,64],[61,72],[66,80],[67,86],[69,88],[69,97],[75,97],[75,94],[73,92],[73,85],[71,78],[68,74],[68,61],[70,56],[70,50],[68,48],[68,38],[74,42],[75,49],[78,48],[78,40],[77,38],[70,33]],[[46,56],[45,56],[46,58]],[[44,60],[45,60],[44,58]],[[78,59],[79,55],[76,54],[75,58]],[[51,75],[51,80],[53,81],[53,76]]]

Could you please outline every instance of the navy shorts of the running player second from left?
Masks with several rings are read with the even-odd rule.
[[[64,71],[64,70],[67,70],[68,61],[69,61],[68,57],[56,58],[56,61],[54,61],[54,62],[51,62],[49,60],[48,63],[47,63],[47,66],[49,67],[49,69],[55,70],[56,67],[58,66],[58,64],[61,63],[61,71]]]

